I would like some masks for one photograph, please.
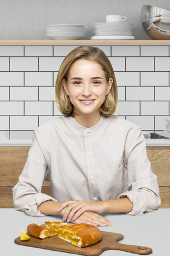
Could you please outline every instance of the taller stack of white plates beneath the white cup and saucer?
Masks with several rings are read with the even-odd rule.
[[[134,40],[132,23],[125,21],[94,23],[92,40]]]

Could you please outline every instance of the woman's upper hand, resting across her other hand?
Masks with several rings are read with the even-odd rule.
[[[91,202],[91,201],[66,201],[58,208],[58,212],[62,211],[63,220],[67,219],[67,222],[76,220],[84,212],[94,212],[100,214],[104,212],[103,201]]]

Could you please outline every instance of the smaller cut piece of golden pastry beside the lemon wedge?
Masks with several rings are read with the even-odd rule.
[[[41,239],[57,235],[57,231],[53,226],[45,224],[38,226],[37,224],[32,223],[27,226],[27,232],[30,233],[30,235]]]

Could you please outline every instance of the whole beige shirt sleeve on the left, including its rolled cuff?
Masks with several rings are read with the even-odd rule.
[[[42,183],[47,177],[48,168],[45,153],[35,133],[28,152],[27,162],[19,176],[18,183],[12,189],[12,193],[16,210],[21,210],[30,216],[44,216],[37,210],[37,207],[44,201],[57,200],[41,193]]]

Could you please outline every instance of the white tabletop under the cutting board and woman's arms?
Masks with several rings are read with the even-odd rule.
[[[45,221],[62,221],[60,216],[31,217],[14,209],[0,209],[0,251],[1,255],[15,256],[67,256],[78,255],[66,252],[51,251],[34,247],[26,247],[14,243],[22,229],[27,231],[30,223],[41,225]],[[107,219],[112,221],[112,226],[100,228],[101,231],[121,233],[124,239],[122,244],[140,245],[152,248],[152,256],[170,255],[170,209],[159,209],[155,212],[145,213],[140,216],[126,214],[105,213]],[[3,254],[2,254],[3,253]],[[104,251],[102,256],[138,255],[117,250]]]

